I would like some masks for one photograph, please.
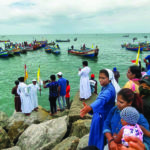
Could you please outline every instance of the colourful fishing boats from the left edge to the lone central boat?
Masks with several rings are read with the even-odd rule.
[[[77,38],[74,38],[74,41],[76,41]],[[70,42],[70,39],[67,40],[56,40],[56,42]],[[9,40],[6,41],[0,41],[0,43],[3,43],[4,47],[0,47],[0,57],[10,57],[15,55],[20,55],[27,53],[28,51],[35,51],[41,48],[45,49],[45,52],[47,53],[53,53],[55,55],[59,55],[61,53],[61,48],[58,44],[56,44],[54,41],[51,43],[48,43],[47,40],[45,41],[36,41],[34,40],[32,43],[22,42],[22,43],[13,43]],[[85,47],[85,44],[80,49],[74,49],[74,46],[71,46],[71,49],[68,49],[68,54],[74,54],[79,56],[85,56],[85,57],[97,57],[99,53],[98,46],[94,48],[87,48]]]

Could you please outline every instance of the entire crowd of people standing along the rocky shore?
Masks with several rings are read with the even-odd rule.
[[[147,59],[149,57],[146,57]],[[147,61],[145,61],[148,63]],[[123,88],[119,86],[120,73],[116,67],[113,70],[101,69],[99,82],[101,91],[96,100],[90,105],[86,100],[93,93],[97,94],[98,83],[91,72],[87,61],[82,62],[83,68],[79,68],[80,94],[79,100],[83,101],[80,116],[87,113],[92,115],[88,147],[99,150],[150,149],[150,75],[142,74],[139,66],[128,68],[127,78]],[[147,64],[149,65],[149,64]],[[70,108],[70,85],[63,78],[62,72],[56,76],[51,75],[50,80],[43,81],[43,88],[49,88],[50,115],[55,115],[58,110]],[[37,91],[41,88],[32,80],[32,84],[26,85],[24,77],[15,81],[12,89],[15,94],[15,109],[25,115],[30,115],[38,110]],[[59,108],[56,101],[58,100]],[[67,105],[67,106],[66,106]],[[139,148],[138,148],[139,147]]]

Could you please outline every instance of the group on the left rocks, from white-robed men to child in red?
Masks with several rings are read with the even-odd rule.
[[[63,78],[62,75],[62,72],[57,73],[58,81],[56,81],[55,75],[51,75],[50,80],[43,81],[43,88],[49,88],[51,116],[57,114],[58,110],[64,111],[66,107],[70,109],[70,85],[69,81]],[[20,77],[15,81],[15,85],[12,89],[12,94],[15,95],[16,112],[22,112],[26,116],[29,116],[32,111],[38,111],[37,92],[38,90],[41,91],[41,88],[37,84],[37,81],[34,79],[32,80],[32,84],[27,85],[24,82],[24,77]],[[59,108],[57,108],[57,100]]]

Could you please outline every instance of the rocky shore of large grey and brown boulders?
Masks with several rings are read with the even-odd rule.
[[[97,95],[93,94],[87,104]],[[30,116],[14,112],[8,117],[0,112],[0,149],[2,150],[81,150],[87,146],[91,116],[80,117],[83,107],[79,93],[73,99],[70,110],[50,116],[39,106]]]

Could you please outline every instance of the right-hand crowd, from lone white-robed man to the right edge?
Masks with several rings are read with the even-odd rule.
[[[89,147],[95,146],[99,150],[150,149],[150,76],[141,72],[141,67],[130,66],[127,71],[129,81],[121,89],[116,67],[100,70],[102,89],[97,99],[87,105],[85,102],[91,94],[85,92],[91,85],[95,86],[88,78],[90,68],[83,62],[83,69],[79,69],[80,99],[84,100],[80,116],[92,115]],[[93,91],[91,88],[90,92]]]

